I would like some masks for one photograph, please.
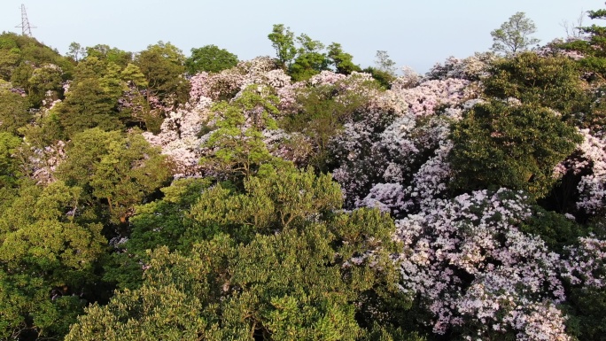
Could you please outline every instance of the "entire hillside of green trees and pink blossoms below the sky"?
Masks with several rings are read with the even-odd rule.
[[[603,340],[606,33],[533,29],[401,75],[0,35],[0,339]]]

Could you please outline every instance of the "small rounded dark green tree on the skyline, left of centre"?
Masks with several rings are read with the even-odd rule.
[[[219,49],[215,45],[191,49],[190,58],[185,59],[185,67],[189,74],[198,74],[203,71],[218,73],[234,66],[237,66],[237,56],[228,50]]]

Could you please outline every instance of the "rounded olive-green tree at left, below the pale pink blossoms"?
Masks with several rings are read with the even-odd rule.
[[[58,178],[82,187],[89,205],[106,208],[113,223],[124,223],[135,205],[171,175],[167,160],[136,131],[93,128],[76,134],[66,149]]]

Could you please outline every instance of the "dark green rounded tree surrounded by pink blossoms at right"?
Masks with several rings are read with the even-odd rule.
[[[553,168],[581,142],[553,110],[498,100],[475,105],[451,136],[455,189],[506,187],[532,198],[548,194],[556,181]]]

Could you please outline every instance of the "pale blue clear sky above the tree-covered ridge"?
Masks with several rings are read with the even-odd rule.
[[[0,31],[20,33],[21,4],[35,38],[62,54],[72,42],[136,52],[163,41],[186,56],[208,44],[241,60],[275,56],[268,34],[284,24],[295,35],[341,43],[362,67],[386,50],[396,66],[422,74],[449,56],[489,50],[490,32],[516,12],[548,43],[565,35],[564,20],[604,7],[603,0],[0,0]],[[586,15],[583,24],[590,21]]]

